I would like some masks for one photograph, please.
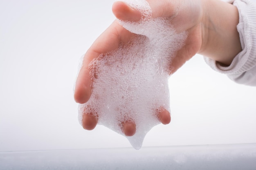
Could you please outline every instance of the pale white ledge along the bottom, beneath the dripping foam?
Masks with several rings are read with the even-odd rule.
[[[125,153],[125,154],[124,154]],[[0,152],[4,170],[255,170],[256,144]],[[27,161],[29,160],[29,161]]]

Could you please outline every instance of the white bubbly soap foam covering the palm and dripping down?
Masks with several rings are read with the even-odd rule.
[[[121,135],[121,124],[131,121],[136,124],[136,132],[127,139],[139,149],[146,133],[160,123],[157,110],[164,108],[171,113],[171,60],[182,47],[186,33],[175,33],[168,18],[153,19],[146,0],[125,2],[142,14],[139,22],[120,21],[137,36],[90,63],[92,95],[87,103],[79,105],[79,119],[83,113],[94,114],[98,124]]]

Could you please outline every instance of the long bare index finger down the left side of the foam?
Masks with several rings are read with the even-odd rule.
[[[99,57],[100,54],[114,51],[118,48],[120,42],[126,44],[133,35],[135,34],[130,33],[115,21],[92,44],[85,53],[81,70],[76,79],[74,99],[77,103],[87,102],[91,95],[91,77],[88,68],[90,62]]]

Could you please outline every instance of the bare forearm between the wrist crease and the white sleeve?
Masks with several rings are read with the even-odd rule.
[[[202,46],[198,53],[229,66],[242,51],[236,28],[239,22],[238,9],[220,0],[202,1]]]

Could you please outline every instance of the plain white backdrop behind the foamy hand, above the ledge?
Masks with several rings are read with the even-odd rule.
[[[115,19],[114,0],[0,0],[0,151],[131,147],[77,120],[80,56]],[[256,143],[256,88],[196,55],[170,78],[171,124],[143,146]]]

